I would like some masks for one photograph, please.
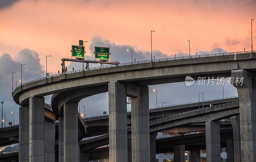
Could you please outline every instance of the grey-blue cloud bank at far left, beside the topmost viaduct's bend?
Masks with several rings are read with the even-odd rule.
[[[12,98],[12,72],[18,72],[13,74],[13,87],[15,89],[16,81],[20,80],[21,64],[27,64],[27,66],[22,66],[23,83],[44,76],[43,66],[40,64],[40,59],[36,51],[23,49],[17,54],[15,59],[6,53],[0,57],[0,100],[4,100],[3,114],[9,114],[6,116],[7,122],[13,121],[13,114],[11,112],[14,111],[16,123],[16,115],[19,111],[19,105],[15,104]],[[17,82],[18,85],[20,85],[20,82]]]

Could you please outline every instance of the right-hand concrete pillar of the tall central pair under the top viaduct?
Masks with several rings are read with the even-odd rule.
[[[150,161],[148,87],[139,86],[132,97],[132,161]]]

